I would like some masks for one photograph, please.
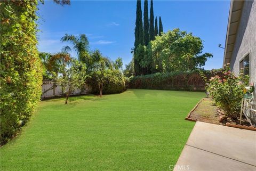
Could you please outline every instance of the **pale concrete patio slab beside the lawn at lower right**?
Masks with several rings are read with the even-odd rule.
[[[256,132],[197,121],[174,170],[256,170]]]

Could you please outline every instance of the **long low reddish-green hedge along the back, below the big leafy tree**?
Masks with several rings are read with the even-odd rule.
[[[206,79],[219,73],[219,70],[203,71]],[[186,91],[204,91],[205,80],[199,71],[193,72],[166,72],[145,76],[130,77],[126,82],[129,88],[139,89],[170,89]]]

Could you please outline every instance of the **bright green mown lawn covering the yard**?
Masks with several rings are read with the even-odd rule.
[[[129,89],[43,101],[1,148],[1,170],[170,170],[202,92]]]

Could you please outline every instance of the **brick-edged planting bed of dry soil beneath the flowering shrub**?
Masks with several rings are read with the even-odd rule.
[[[256,131],[256,128],[252,127],[245,116],[242,116],[242,124],[239,125],[239,117],[234,120],[224,115],[210,98],[204,98],[199,101],[195,108],[191,110],[186,117],[186,120],[190,121],[202,121],[210,124],[226,125],[239,128],[249,128]],[[254,128],[254,129],[253,129]]]

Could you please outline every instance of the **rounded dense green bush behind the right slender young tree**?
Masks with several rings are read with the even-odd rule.
[[[115,94],[125,91],[124,76],[119,70],[107,70],[107,80],[103,84],[103,94]],[[86,81],[86,84],[92,87],[93,94],[99,94],[99,85],[96,80],[97,73],[93,73],[91,77]]]

